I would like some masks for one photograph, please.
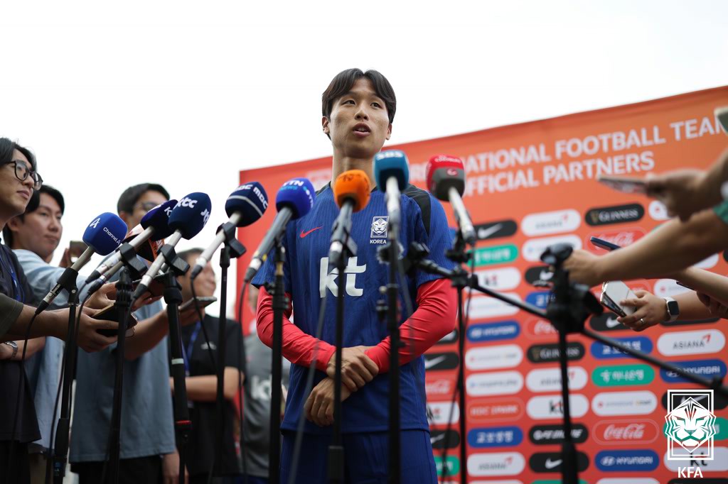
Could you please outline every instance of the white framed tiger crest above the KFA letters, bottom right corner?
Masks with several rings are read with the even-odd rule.
[[[713,460],[713,390],[668,390],[668,460]]]

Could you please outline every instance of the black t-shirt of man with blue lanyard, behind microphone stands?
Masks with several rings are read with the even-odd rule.
[[[218,318],[205,315],[204,321],[207,337],[210,338],[210,348],[217,362],[218,358]],[[194,342],[190,345],[194,337]],[[226,320],[225,325],[225,366],[232,366],[242,371],[242,332],[240,324],[233,320]],[[191,352],[189,348],[191,346]],[[191,324],[182,328],[182,347],[189,361],[189,376],[203,376],[217,374],[216,368],[207,354],[207,342],[202,331],[202,325]],[[191,353],[191,354],[189,354]],[[223,459],[221,471],[224,475],[241,473],[238,465],[235,440],[233,436],[234,404],[225,401],[223,426]],[[206,474],[213,464],[215,453],[215,402],[193,402],[190,409],[192,430],[187,444],[187,469],[190,475]]]

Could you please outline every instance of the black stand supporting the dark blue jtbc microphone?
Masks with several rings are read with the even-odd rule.
[[[182,291],[177,281],[178,275],[184,275],[189,270],[189,264],[177,256],[173,246],[165,245],[157,257],[165,257],[169,270],[162,275],[165,283],[165,302],[167,303],[167,320],[170,325],[170,363],[172,378],[175,385],[173,394],[175,440],[180,456],[179,484],[184,483],[184,469],[186,459],[187,441],[192,422],[189,419],[187,407],[186,374],[184,358],[182,357],[182,337],[179,320],[179,305],[182,302]],[[202,323],[202,321],[200,321]]]

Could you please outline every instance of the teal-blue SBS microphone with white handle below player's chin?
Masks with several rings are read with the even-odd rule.
[[[407,155],[402,150],[380,151],[374,156],[374,179],[379,190],[387,193],[388,238],[397,237],[400,227],[400,193],[409,182]]]

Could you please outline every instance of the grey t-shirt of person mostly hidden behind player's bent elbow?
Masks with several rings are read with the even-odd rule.
[[[245,338],[245,472],[256,477],[268,477],[268,448],[270,445],[271,358],[267,347],[253,330]],[[290,363],[283,360],[283,386],[288,389]]]

